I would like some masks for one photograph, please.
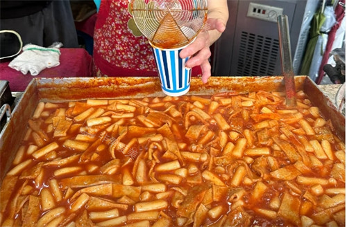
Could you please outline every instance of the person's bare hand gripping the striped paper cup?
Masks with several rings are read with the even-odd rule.
[[[206,23],[205,29],[196,36],[195,41],[180,52],[182,58],[192,56],[185,64],[187,68],[201,66],[203,73],[201,80],[204,84],[208,82],[208,78],[211,76],[211,65],[208,61],[211,56],[209,31],[217,30],[219,33],[223,33],[226,29],[226,25],[221,19],[209,18]]]

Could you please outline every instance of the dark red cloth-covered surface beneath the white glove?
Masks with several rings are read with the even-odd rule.
[[[8,67],[10,62],[0,63],[0,80],[10,82],[11,91],[24,91],[33,78],[74,78],[92,76],[92,56],[83,48],[60,48],[60,65],[44,69],[39,75],[21,72]]]

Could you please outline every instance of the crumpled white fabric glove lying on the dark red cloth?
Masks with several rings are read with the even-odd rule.
[[[15,57],[8,66],[24,75],[30,71],[31,75],[37,75],[46,68],[58,66],[61,43],[53,47],[44,48],[33,44],[27,44],[23,47],[23,52]]]

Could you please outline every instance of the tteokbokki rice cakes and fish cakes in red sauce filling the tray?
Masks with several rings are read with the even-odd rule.
[[[39,102],[1,226],[345,226],[345,144],[305,93]]]

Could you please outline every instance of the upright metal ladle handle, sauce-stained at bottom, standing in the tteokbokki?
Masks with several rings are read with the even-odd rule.
[[[296,91],[294,82],[293,64],[291,63],[290,37],[287,15],[279,15],[278,36],[280,40],[280,57],[282,65],[282,74],[285,78],[286,105],[296,106]]]

